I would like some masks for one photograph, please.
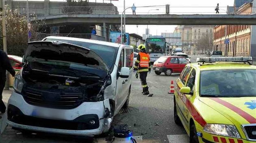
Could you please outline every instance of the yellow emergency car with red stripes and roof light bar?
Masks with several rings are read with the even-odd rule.
[[[190,143],[256,143],[252,57],[197,58],[175,82],[174,120]]]

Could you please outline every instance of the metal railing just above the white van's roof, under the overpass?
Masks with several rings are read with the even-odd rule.
[[[71,37],[71,38],[82,38],[82,39],[106,41],[106,39],[104,37],[94,35],[94,34],[45,34],[45,33],[37,33],[37,40],[43,40],[44,38],[46,38],[48,36],[61,36],[61,37]]]

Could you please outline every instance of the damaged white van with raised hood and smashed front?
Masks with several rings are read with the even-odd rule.
[[[22,132],[93,137],[128,107],[133,48],[67,37],[30,42],[15,77],[7,124]]]

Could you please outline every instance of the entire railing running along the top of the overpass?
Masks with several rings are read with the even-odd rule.
[[[118,11],[118,8],[121,11]],[[165,14],[165,6],[154,7],[157,11],[151,11],[150,8],[137,8],[137,15],[152,15],[152,14]],[[213,15],[216,14],[214,6],[171,6],[170,13],[172,15]],[[26,14],[26,11],[20,11]],[[62,6],[44,9],[35,9],[29,11],[30,17],[45,17],[52,15],[120,15],[122,8],[116,6]],[[254,15],[256,14],[256,7],[241,6],[241,7],[219,7],[220,15]],[[128,9],[126,15],[132,15],[132,10]]]

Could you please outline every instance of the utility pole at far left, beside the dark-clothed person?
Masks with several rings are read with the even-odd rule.
[[[2,0],[2,34],[3,34],[3,48],[4,52],[7,54],[7,44],[6,44],[6,22],[5,22],[5,0]],[[9,73],[6,71],[6,82],[5,90],[9,90]]]

